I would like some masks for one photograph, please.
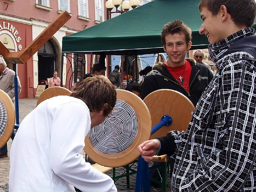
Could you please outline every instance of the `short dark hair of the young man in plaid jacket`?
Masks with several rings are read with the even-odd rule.
[[[201,0],[199,11],[207,8],[213,16],[220,11],[220,6],[225,5],[231,19],[238,26],[252,27],[256,15],[255,0]]]

